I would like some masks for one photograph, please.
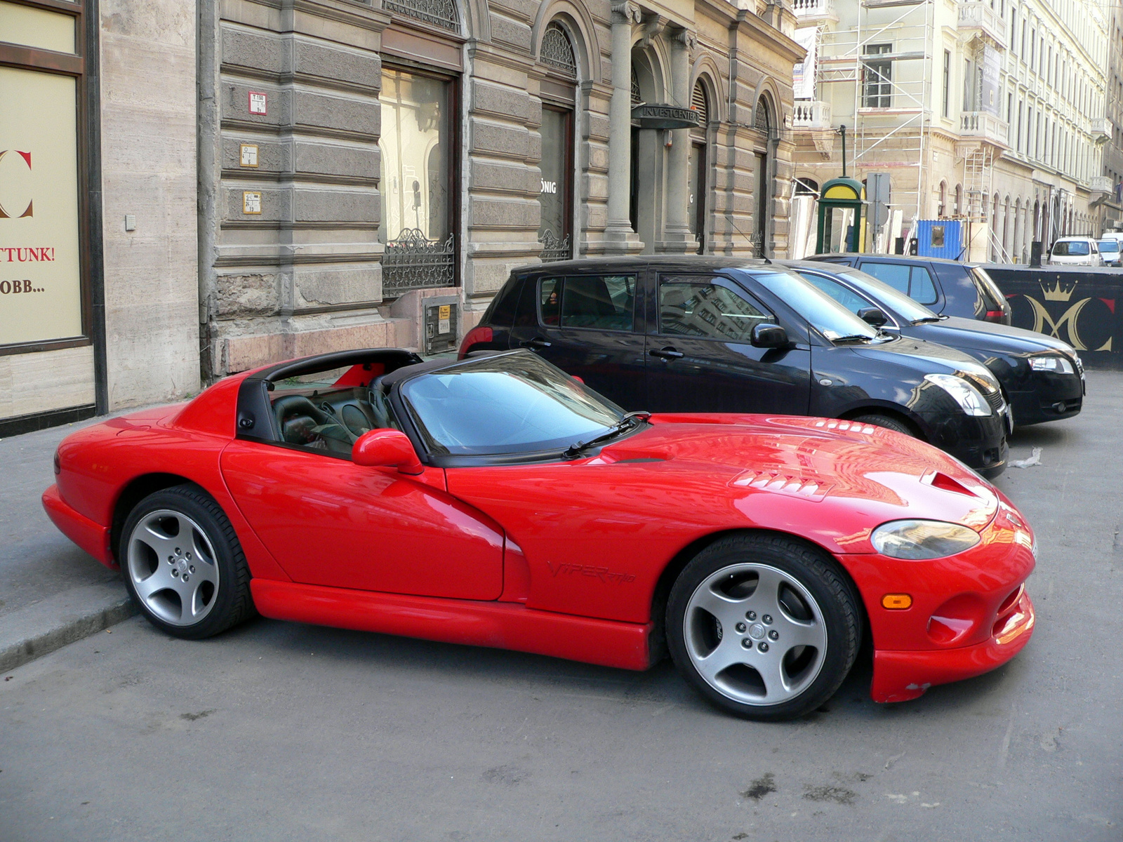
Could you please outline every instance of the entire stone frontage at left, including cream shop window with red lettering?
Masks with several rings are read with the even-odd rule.
[[[455,348],[521,264],[785,255],[794,26],[784,0],[0,0],[0,436]]]

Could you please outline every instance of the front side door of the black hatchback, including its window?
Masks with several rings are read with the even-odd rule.
[[[722,275],[660,273],[649,284],[649,410],[807,413],[810,348],[754,347],[754,327],[779,323],[758,299]]]

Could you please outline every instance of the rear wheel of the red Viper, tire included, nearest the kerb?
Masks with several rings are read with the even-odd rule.
[[[117,558],[140,613],[168,634],[201,640],[256,614],[238,536],[198,485],[141,500],[125,521]]]

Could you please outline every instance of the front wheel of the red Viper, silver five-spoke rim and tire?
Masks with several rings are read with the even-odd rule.
[[[787,720],[838,690],[858,655],[860,617],[853,586],[827,553],[785,536],[730,536],[672,587],[667,644],[719,707]]]

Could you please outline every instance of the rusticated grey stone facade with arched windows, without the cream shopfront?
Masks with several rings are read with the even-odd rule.
[[[786,251],[782,3],[199,6],[207,378],[447,348],[540,259]]]

